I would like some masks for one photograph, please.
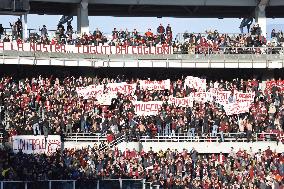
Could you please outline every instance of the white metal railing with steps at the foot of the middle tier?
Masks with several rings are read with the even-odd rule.
[[[284,135],[279,136],[276,133],[253,133],[248,136],[247,133],[223,133],[224,142],[248,142],[248,141],[277,141],[284,139]],[[111,148],[123,141],[125,141],[125,135],[122,135],[116,138],[109,144],[105,144],[102,149],[107,147]],[[88,135],[88,137],[82,137],[78,134],[73,134],[67,136],[65,138],[66,141],[72,142],[102,142],[106,141],[106,137],[98,138],[97,135]],[[131,141],[131,140],[129,140]],[[179,133],[179,134],[169,134],[169,135],[160,135],[156,136],[140,136],[140,142],[220,142],[221,141],[221,133],[217,133],[216,135],[212,135],[212,133],[207,135],[195,135],[192,136],[190,133]]]

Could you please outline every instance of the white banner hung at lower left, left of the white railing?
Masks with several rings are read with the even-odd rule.
[[[18,135],[13,136],[13,151],[22,150],[26,154],[51,154],[61,149],[61,138],[59,135]]]

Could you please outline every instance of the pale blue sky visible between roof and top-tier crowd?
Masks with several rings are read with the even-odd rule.
[[[3,27],[10,27],[9,22],[17,20],[17,16],[5,16],[0,15],[0,24]],[[60,16],[52,15],[28,15],[28,28],[38,29],[43,24],[47,26],[47,29],[55,30]],[[76,17],[74,17],[72,26],[74,29],[76,26]],[[111,33],[114,27],[117,29],[127,28],[129,31],[136,28],[140,32],[146,32],[148,28],[156,31],[157,26],[162,23],[164,26],[170,24],[174,35],[177,33],[188,32],[205,32],[206,30],[218,29],[220,33],[240,33],[239,25],[241,19],[238,18],[157,18],[157,17],[110,17],[110,16],[90,16],[89,25],[90,31],[99,28],[104,33]],[[284,19],[267,19],[267,33],[270,33],[271,29],[284,30]]]

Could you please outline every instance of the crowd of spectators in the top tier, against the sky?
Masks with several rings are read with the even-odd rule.
[[[22,22],[18,20],[12,27],[12,38],[8,35],[2,41],[17,40],[19,43],[30,41],[42,44],[69,44],[69,45],[111,45],[111,46],[157,46],[169,45],[175,53],[182,54],[279,54],[283,46],[282,31],[272,30],[271,39],[267,40],[262,35],[258,24],[250,28],[246,34],[220,34],[217,30],[205,31],[205,33],[185,32],[182,37],[173,38],[173,31],[168,24],[164,27],[160,24],[156,31],[149,28],[145,33],[118,30],[114,28],[111,34],[106,34],[98,28],[93,33],[76,34],[71,22],[59,24],[57,30],[49,32],[45,25],[39,29],[40,33],[32,32],[28,39],[22,38]],[[267,47],[267,48],[261,48]]]

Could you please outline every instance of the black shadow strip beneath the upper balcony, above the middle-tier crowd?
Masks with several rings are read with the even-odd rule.
[[[125,78],[140,79],[178,79],[182,76],[199,76],[207,79],[234,78],[267,79],[283,77],[284,69],[207,69],[207,68],[92,68],[92,67],[63,67],[63,66],[30,66],[30,65],[0,65],[0,77],[13,76],[25,78],[42,75],[44,77],[90,76],[116,78],[124,75]]]

